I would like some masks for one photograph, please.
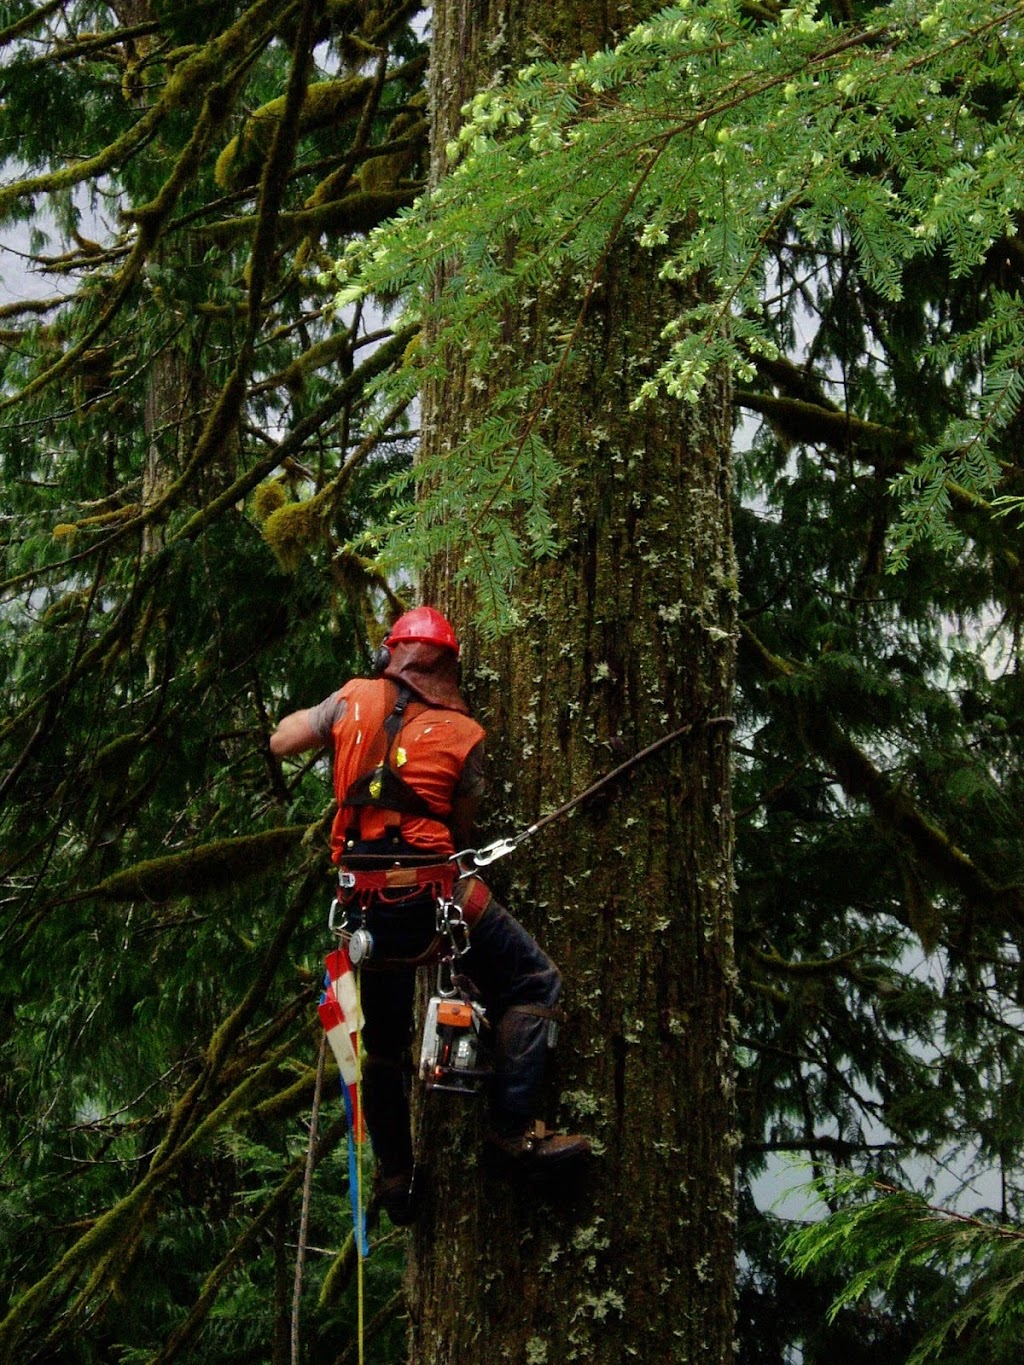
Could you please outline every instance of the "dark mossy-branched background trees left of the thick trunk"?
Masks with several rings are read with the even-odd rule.
[[[3,8],[0,201],[31,270],[4,307],[10,1358],[292,1350],[329,879],[302,844],[322,774],[266,736],[401,587],[341,545],[408,457],[365,392],[408,337],[328,322],[314,266],[421,180],[412,12]],[[351,1257],[329,1267],[303,1324],[326,1361]]]

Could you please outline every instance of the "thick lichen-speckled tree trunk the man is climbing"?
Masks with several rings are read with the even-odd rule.
[[[564,4],[492,4],[483,19],[468,0],[437,4],[433,30],[436,164],[494,70],[534,45],[571,57],[617,37]],[[482,1107],[429,1099],[414,1365],[732,1358],[730,419],[725,381],[692,412],[629,411],[673,306],[657,265],[613,254],[558,385],[545,435],[567,468],[561,550],[519,586],[522,625],[472,639],[471,603],[440,573],[427,584],[463,629],[490,733],[482,839],[692,730],[494,868],[563,971],[556,1117],[598,1155],[554,1189],[509,1183],[479,1155]],[[563,306],[575,319],[578,300]],[[535,308],[532,336],[560,330],[552,315]],[[451,444],[472,394],[455,381],[427,396],[427,442]]]

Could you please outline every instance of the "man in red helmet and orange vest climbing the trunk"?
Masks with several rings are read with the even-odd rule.
[[[438,946],[438,900],[455,895],[470,927],[461,968],[494,1025],[489,1141],[513,1170],[543,1171],[590,1151],[584,1137],[549,1133],[539,1121],[558,969],[455,860],[483,790],[485,737],[459,691],[457,659],[445,617],[415,607],[392,628],[375,677],[294,711],[270,737],[277,756],[333,749],[330,844],[345,930],[365,930],[371,945],[362,981],[363,1107],[380,1203],[399,1224],[415,1218],[404,1069],[415,969]]]

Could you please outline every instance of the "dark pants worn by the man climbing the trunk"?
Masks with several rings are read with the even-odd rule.
[[[358,919],[358,913],[355,916]],[[350,913],[348,923],[352,923]],[[373,898],[365,913],[373,935],[373,960],[415,958],[436,934],[436,901],[430,895],[388,904]],[[522,1132],[539,1115],[550,1036],[550,1014],[561,991],[561,976],[508,910],[492,901],[470,935],[470,950],[456,972],[468,977],[481,996],[494,1051],[492,1122]],[[412,1040],[415,968],[363,969],[363,1112],[381,1174],[412,1168],[412,1138],[407,1077]]]

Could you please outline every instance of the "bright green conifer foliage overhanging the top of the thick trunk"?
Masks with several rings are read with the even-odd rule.
[[[410,298],[434,339],[411,358],[430,382],[456,359],[504,374],[508,318],[554,291],[582,313],[613,243],[634,240],[680,287],[634,401],[664,390],[692,404],[722,366],[750,382],[760,358],[780,355],[769,304],[780,250],[848,251],[857,287],[898,306],[920,270],[939,262],[950,281],[967,280],[1016,240],[1020,41],[1013,4],[909,0],[853,26],[806,4],[763,23],[733,0],[666,10],[613,52],[538,63],[477,94],[448,149],[451,175],[350,246],[339,306],[367,292]],[[1002,478],[999,442],[1021,394],[1016,291],[986,288],[969,330],[922,341],[919,366],[975,371],[980,384],[918,435],[897,480],[897,568],[922,534],[960,543],[950,485],[980,495]],[[523,554],[549,551],[519,516],[558,476],[541,457],[538,419],[572,355],[573,334],[554,336],[507,388],[490,392],[487,379],[483,425],[423,471],[419,542],[400,526],[396,556],[427,562],[444,549],[468,577],[504,587]],[[406,392],[410,381],[385,382]],[[457,489],[466,516],[445,541],[438,509]],[[490,524],[498,511],[504,535]]]

